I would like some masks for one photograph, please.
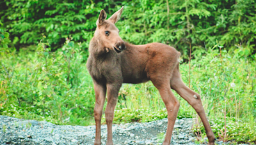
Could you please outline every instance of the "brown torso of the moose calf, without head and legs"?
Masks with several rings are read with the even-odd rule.
[[[109,51],[99,58],[90,55],[88,70],[95,81],[117,83],[118,79],[118,83],[145,83],[156,75],[157,70],[171,73],[169,70],[178,64],[180,53],[162,43],[137,46],[125,43],[125,47],[122,53]],[[161,77],[163,74],[157,75]]]

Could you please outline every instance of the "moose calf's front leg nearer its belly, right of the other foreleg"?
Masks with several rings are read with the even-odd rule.
[[[114,119],[114,110],[116,106],[116,100],[118,99],[118,92],[121,87],[122,83],[118,84],[108,84],[107,90],[108,90],[108,104],[106,106],[106,123],[108,126],[108,140],[107,145],[113,144],[112,139],[112,123]]]

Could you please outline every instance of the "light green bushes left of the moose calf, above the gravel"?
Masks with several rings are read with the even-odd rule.
[[[1,57],[0,113],[44,116],[60,124],[90,118],[94,96],[81,45],[74,45],[72,38],[56,52],[47,45],[41,41],[35,53],[20,51]]]

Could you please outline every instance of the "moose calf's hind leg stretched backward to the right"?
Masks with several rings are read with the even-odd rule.
[[[173,71],[173,76],[170,81],[170,84],[171,84],[172,89],[175,90],[177,93],[179,93],[179,95],[183,99],[188,101],[188,103],[195,109],[196,113],[200,116],[200,118],[204,124],[205,132],[209,139],[209,144],[214,145],[215,137],[212,132],[211,126],[209,124],[209,121],[206,118],[206,114],[204,111],[204,107],[202,105],[200,95],[198,93],[194,92],[193,90],[191,90],[190,88],[188,88],[188,86],[186,86],[183,83],[183,81],[180,77],[179,69],[175,69],[175,71]]]

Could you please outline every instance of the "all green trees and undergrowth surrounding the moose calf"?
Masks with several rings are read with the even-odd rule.
[[[135,45],[165,43],[181,52],[182,79],[202,96],[216,137],[255,143],[254,0],[0,1],[0,114],[93,125],[88,45],[100,10],[110,17],[121,6],[121,38]],[[196,118],[175,96],[178,118]],[[151,82],[122,86],[115,123],[166,116]],[[198,141],[205,137],[200,121],[194,132]]]

